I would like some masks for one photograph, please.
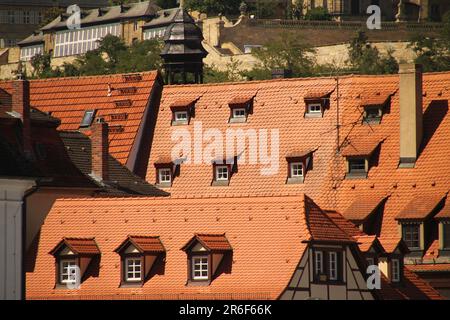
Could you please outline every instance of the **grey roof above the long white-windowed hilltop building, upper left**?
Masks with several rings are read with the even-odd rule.
[[[93,25],[110,23],[132,18],[151,18],[157,15],[160,8],[151,1],[131,3],[122,6],[104,7],[83,12],[81,25]],[[60,15],[55,20],[42,27],[42,31],[52,29],[66,29],[67,24],[64,15]]]

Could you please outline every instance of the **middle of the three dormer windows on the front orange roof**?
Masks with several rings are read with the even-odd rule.
[[[115,250],[121,259],[121,286],[142,286],[158,273],[164,263],[165,249],[155,236],[128,236]]]

